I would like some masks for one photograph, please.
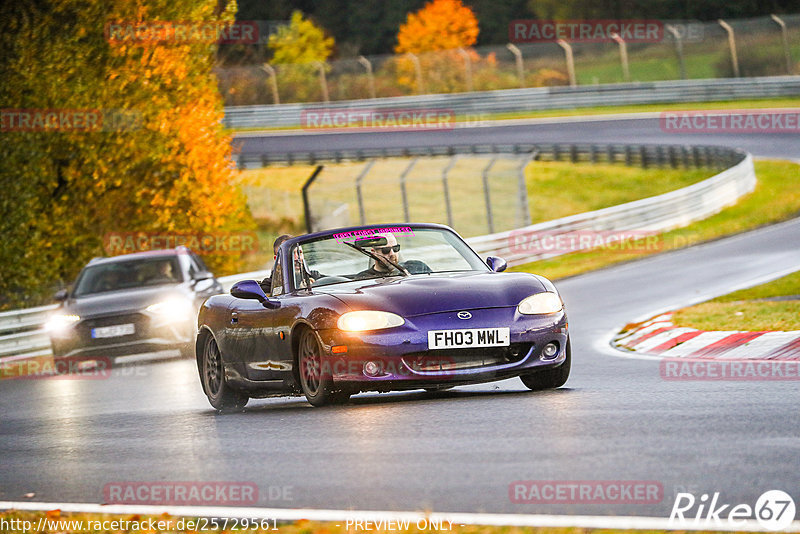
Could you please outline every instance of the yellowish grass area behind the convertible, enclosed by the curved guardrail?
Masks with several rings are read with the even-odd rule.
[[[362,184],[367,223],[405,220],[398,177],[410,161],[407,158],[375,160]],[[447,224],[441,176],[449,161],[450,158],[420,158],[408,173],[409,220]],[[488,162],[486,157],[461,157],[448,174],[453,226],[465,237],[489,233],[480,178],[480,170]],[[354,184],[366,165],[365,162],[326,165],[311,187],[312,213],[340,213],[327,226],[361,222]],[[495,231],[665,193],[713,174],[710,170],[536,161],[526,167],[530,214],[523,221],[517,202],[518,167],[519,160],[510,158],[498,158],[492,167],[489,184]],[[248,269],[260,268],[272,259],[268,245],[277,234],[304,231],[301,188],[313,170],[314,167],[304,165],[243,172],[243,188],[261,229],[259,243],[263,244]],[[280,230],[275,230],[276,221],[281,223]]]

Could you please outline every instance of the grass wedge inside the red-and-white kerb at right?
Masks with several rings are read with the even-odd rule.
[[[757,300],[780,296],[797,300]],[[700,330],[800,330],[800,271],[680,309],[673,322]]]

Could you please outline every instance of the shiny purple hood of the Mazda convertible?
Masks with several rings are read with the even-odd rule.
[[[315,289],[354,310],[383,310],[405,317],[429,313],[516,306],[546,291],[528,273],[469,272],[347,282]]]

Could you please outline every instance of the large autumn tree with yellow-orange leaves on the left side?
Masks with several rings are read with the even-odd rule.
[[[216,43],[114,41],[108,34],[112,22],[232,20],[235,3],[221,13],[219,5],[43,0],[0,7],[0,308],[46,301],[90,258],[106,254],[109,234],[252,229],[221,124]],[[18,127],[14,110],[88,112],[102,124],[80,128],[59,119]],[[205,259],[224,274],[240,258]]]

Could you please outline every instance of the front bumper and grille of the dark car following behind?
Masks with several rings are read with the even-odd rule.
[[[113,337],[93,337],[95,328],[133,324],[134,332]],[[50,334],[53,355],[63,358],[115,357],[180,349],[194,343],[193,318],[165,322],[144,312],[84,317],[61,334]]]

